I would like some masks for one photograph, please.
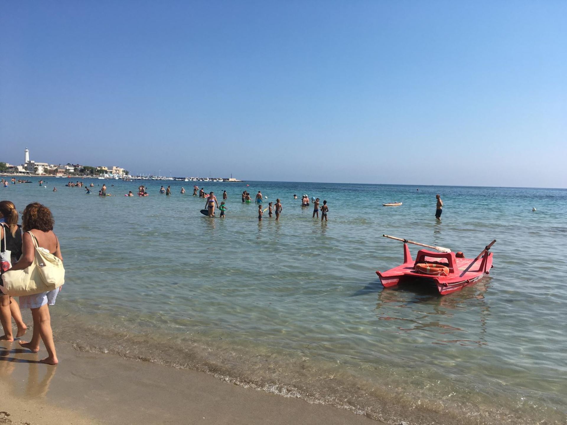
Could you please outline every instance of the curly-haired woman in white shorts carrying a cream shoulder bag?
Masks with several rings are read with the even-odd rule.
[[[37,241],[39,249],[44,249],[63,261],[61,247],[57,236],[53,233],[53,216],[49,208],[40,203],[30,203],[22,215],[22,258],[11,270],[23,270],[30,266],[35,257],[35,245]],[[49,305],[55,304],[58,292],[61,288],[49,292],[41,292],[35,295],[20,296],[20,307],[30,308],[33,317],[33,334],[29,342],[20,341],[20,345],[32,352],[39,351],[40,338],[45,345],[48,356],[40,360],[41,363],[57,364],[57,354],[53,343],[53,332],[51,330],[51,318],[49,316]]]

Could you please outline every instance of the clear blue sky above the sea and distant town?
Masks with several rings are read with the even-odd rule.
[[[567,187],[565,1],[0,3],[0,160]]]

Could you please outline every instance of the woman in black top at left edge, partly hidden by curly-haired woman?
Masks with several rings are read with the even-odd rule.
[[[5,239],[6,237],[6,239]],[[6,246],[4,246],[6,240]],[[18,226],[18,211],[10,201],[0,202],[0,250],[11,251],[11,263],[14,265],[22,256],[22,231]],[[5,270],[0,268],[0,274]],[[0,284],[2,282],[0,281]],[[14,341],[14,334],[12,334],[12,317],[18,326],[16,338],[21,337],[26,333],[27,326],[22,320],[22,313],[16,300],[8,295],[2,295],[0,292],[0,322],[4,328],[4,335],[0,340]]]

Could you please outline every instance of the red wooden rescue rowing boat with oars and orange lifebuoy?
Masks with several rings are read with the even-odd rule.
[[[431,247],[430,245],[419,244],[388,235],[382,236],[400,240],[404,243],[404,264],[384,272],[376,271],[384,288],[409,281],[423,281],[426,284],[431,283],[437,286],[439,294],[447,295],[479,281],[492,268],[492,253],[489,252],[489,249],[496,243],[496,240],[486,245],[483,252],[472,259],[464,258],[460,252],[456,254],[450,252],[447,248]],[[412,260],[412,254],[409,252],[408,243],[444,252],[420,249],[414,261]]]

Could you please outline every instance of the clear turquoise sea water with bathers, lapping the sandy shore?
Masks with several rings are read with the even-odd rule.
[[[58,341],[388,423],[567,420],[567,190],[248,182],[282,199],[281,221],[259,223],[244,183],[198,183],[229,193],[226,218],[209,219],[192,182],[145,181],[149,197],[127,198],[139,181],[107,180],[117,196],[100,198],[32,180],[0,190],[19,211],[39,201],[55,216],[67,280],[52,309]],[[329,221],[294,193],[327,199]],[[494,268],[447,296],[383,290],[375,270],[403,260],[383,233],[467,257],[497,239]]]

